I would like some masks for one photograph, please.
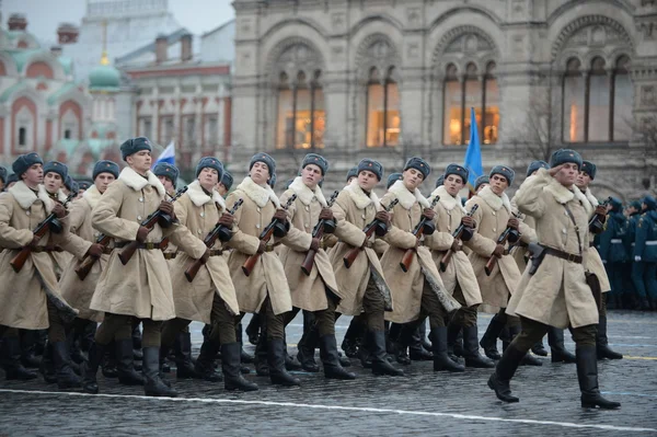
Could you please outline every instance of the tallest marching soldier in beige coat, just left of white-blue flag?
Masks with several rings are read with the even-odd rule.
[[[105,313],[95,334],[95,347],[90,350],[85,380],[95,376],[107,345],[114,340],[131,341],[132,319],[143,325],[142,353],[146,395],[175,396],[177,393],[160,378],[160,327],[175,317],[171,277],[159,242],[175,230],[164,219],[152,229],[141,222],[160,210],[175,220],[173,205],[164,200],[164,186],[151,173],[151,145],[137,137],[120,146],[127,162],[92,210],[94,229],[112,237],[115,248],[103,269],[90,308]],[[164,227],[163,227],[164,226]],[[124,265],[122,249],[136,242],[137,250]]]

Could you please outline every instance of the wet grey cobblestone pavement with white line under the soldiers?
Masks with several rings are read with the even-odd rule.
[[[480,335],[488,321],[480,317]],[[288,327],[291,354],[301,323],[298,317]],[[338,321],[338,344],[347,325],[347,318]],[[201,325],[192,329],[198,353]],[[175,400],[145,398],[139,388],[102,376],[101,395],[69,394],[41,379],[15,382],[0,376],[0,436],[657,435],[657,314],[612,312],[609,333],[611,346],[625,358],[600,363],[600,387],[623,403],[619,411],[583,410],[575,366],[549,359],[542,367],[519,369],[512,381],[518,404],[497,401],[486,387],[491,370],[435,373],[430,361],[413,363],[405,378],[373,377],[356,363],[350,367],[356,381],[297,372],[302,387],[293,389],[250,375],[261,387],[253,393],[180,381],[174,383]],[[566,337],[566,347],[574,350]]]

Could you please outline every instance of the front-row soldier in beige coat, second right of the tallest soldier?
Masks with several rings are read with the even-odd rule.
[[[292,309],[290,290],[283,264],[274,253],[274,239],[268,243],[260,239],[261,232],[274,218],[285,228],[283,233],[289,229],[287,214],[269,186],[274,174],[274,158],[267,153],[257,153],[251,159],[249,175],[228,195],[228,208],[232,208],[240,198],[244,202],[235,212],[234,226],[241,232],[229,243],[233,250],[228,264],[238,290],[241,314],[261,313],[263,333],[266,332],[266,338],[263,338],[262,343],[266,343],[272,383],[299,386],[299,379],[293,378],[285,368],[287,350],[284,342],[284,314]],[[246,276],[242,265],[253,255],[257,255],[258,258]]]

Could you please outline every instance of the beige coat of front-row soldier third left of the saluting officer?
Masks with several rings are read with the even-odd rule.
[[[385,281],[392,291],[392,300],[395,302],[393,311],[385,313],[385,320],[394,323],[417,320],[422,308],[425,280],[438,295],[448,312],[461,308],[450,295],[446,294],[445,285],[427,246],[419,245],[414,250],[415,254],[408,271],[406,273],[402,271],[400,263],[406,250],[415,248],[417,242],[413,230],[420,220],[424,208],[429,207],[429,203],[419,193],[419,189],[416,188],[414,193],[411,193],[404,186],[403,181],[396,181],[383,196],[381,203],[389,205],[395,198],[399,204],[391,211],[392,227],[387,239],[389,248],[381,257]]]

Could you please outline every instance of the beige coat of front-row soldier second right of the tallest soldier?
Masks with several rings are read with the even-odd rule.
[[[257,252],[260,234],[272,221],[280,202],[268,185],[260,186],[249,176],[228,196],[226,207],[232,208],[240,198],[244,203],[235,212],[235,226],[241,232],[235,233],[229,242],[234,250],[228,262],[240,311],[260,312],[267,296],[275,314],[291,311],[290,289],[283,264],[275,252],[262,253],[250,276],[242,272],[244,262]],[[275,244],[275,240],[272,238],[268,245]]]

